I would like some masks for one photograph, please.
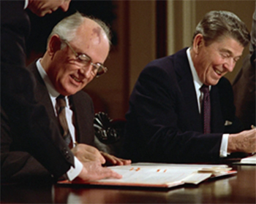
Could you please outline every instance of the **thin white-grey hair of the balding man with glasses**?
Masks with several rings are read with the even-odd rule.
[[[48,42],[50,38],[55,34],[57,34],[61,39],[67,40],[68,42],[72,41],[72,39],[75,39],[78,28],[83,24],[86,18],[94,20],[94,22],[102,28],[108,37],[108,42],[111,46],[110,28],[102,20],[99,20],[95,17],[82,15],[80,12],[75,12],[75,14],[65,17],[56,26],[54,26],[53,31],[51,31],[50,36],[48,36]],[[62,43],[61,49],[63,49],[65,46],[66,44]]]

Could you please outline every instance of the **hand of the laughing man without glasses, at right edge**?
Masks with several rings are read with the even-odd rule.
[[[256,129],[244,130],[241,133],[230,134],[227,152],[256,152]]]

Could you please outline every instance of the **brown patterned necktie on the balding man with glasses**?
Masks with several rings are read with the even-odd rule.
[[[73,142],[71,138],[71,134],[69,133],[69,127],[67,125],[67,118],[66,118],[66,100],[64,95],[59,95],[58,98],[56,98],[57,105],[58,105],[58,118],[59,118],[59,124],[61,125],[61,134],[64,138],[64,141],[66,141],[67,145],[70,149],[73,147]]]

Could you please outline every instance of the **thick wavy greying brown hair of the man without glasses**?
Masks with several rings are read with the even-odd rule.
[[[195,28],[193,40],[197,34],[202,34],[206,45],[223,36],[230,36],[243,47],[250,41],[249,31],[243,21],[232,12],[211,11],[206,13],[203,20]]]

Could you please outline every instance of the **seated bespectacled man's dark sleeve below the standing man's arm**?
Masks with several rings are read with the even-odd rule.
[[[51,180],[50,173],[28,152],[15,147],[4,112],[1,111],[1,182]]]

